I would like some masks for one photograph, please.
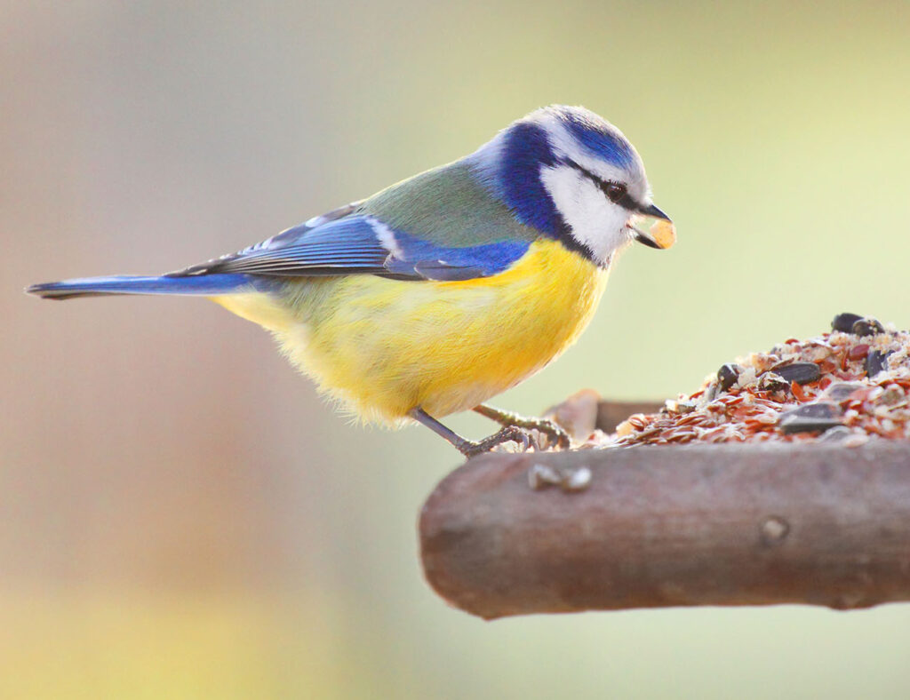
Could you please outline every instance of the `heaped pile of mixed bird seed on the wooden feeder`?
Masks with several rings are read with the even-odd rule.
[[[790,338],[723,365],[692,395],[631,415],[581,446],[910,438],[910,333],[841,314],[832,332]]]

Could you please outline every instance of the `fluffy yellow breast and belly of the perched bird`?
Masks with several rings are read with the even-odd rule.
[[[415,406],[436,417],[468,410],[539,371],[588,325],[605,283],[597,265],[539,241],[491,277],[308,278],[281,299],[215,301],[273,331],[295,365],[359,416],[396,423]]]

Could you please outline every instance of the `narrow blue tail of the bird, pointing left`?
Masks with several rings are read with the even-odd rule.
[[[32,285],[25,292],[44,299],[74,299],[77,296],[105,295],[204,295],[214,296],[258,289],[263,280],[251,275],[196,275],[186,277],[82,277],[63,282]]]

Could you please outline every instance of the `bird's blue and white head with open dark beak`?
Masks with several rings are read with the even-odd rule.
[[[667,222],[642,158],[615,126],[584,107],[552,105],[513,122],[472,156],[481,179],[524,225],[599,265],[632,240],[668,247],[635,225]]]

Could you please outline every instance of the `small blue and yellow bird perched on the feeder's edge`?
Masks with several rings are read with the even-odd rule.
[[[672,245],[675,227],[655,235],[658,225],[671,219],[622,132],[584,107],[550,105],[470,155],[237,253],[25,291],[207,297],[266,328],[364,422],[426,425],[468,456],[507,442],[527,449],[529,435],[567,446],[551,421],[486,402],[577,340],[624,248]],[[501,429],[472,441],[440,421],[469,410]]]

